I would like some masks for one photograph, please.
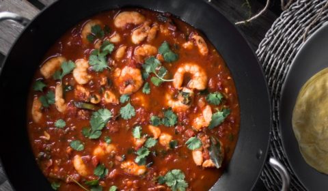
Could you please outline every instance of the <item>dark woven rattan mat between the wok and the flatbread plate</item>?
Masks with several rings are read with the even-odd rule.
[[[292,3],[288,10],[282,12],[275,20],[256,50],[267,78],[273,109],[269,156],[280,160],[288,169],[291,179],[290,190],[305,190],[305,188],[292,172],[282,147],[278,117],[280,92],[290,64],[304,43],[303,34],[306,29],[311,26],[307,35],[310,36],[328,21],[328,10],[325,8],[327,1],[298,0]],[[325,9],[319,14],[321,8]],[[268,190],[280,190],[282,186],[279,174],[269,164],[265,164],[260,178]]]

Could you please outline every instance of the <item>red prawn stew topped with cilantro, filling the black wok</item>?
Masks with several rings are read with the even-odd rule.
[[[132,8],[57,40],[27,108],[31,147],[54,190],[209,190],[240,123],[234,80],[204,35]]]

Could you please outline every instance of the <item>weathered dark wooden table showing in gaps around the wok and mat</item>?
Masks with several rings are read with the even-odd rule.
[[[45,6],[50,5],[55,0],[0,0],[0,12],[9,11],[32,19]],[[68,0],[66,0],[68,1]],[[244,20],[250,13],[256,13],[264,7],[266,0],[212,0],[220,12],[226,16],[232,23]],[[250,8],[247,2],[251,5]],[[279,2],[279,1],[277,1]],[[249,42],[251,48],[255,51],[260,44],[265,33],[269,30],[274,20],[279,16],[279,4],[273,1],[270,8],[263,16],[247,25],[238,25],[241,33]],[[11,21],[0,23],[0,66],[5,55],[10,50],[15,38],[23,27]],[[10,183],[3,172],[0,164],[0,191],[12,190]],[[254,190],[265,190],[262,181],[256,183]]]

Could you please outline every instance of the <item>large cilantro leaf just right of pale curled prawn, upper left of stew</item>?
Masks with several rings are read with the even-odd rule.
[[[92,70],[95,72],[102,72],[106,68],[109,68],[107,65],[106,55],[103,53],[99,53],[99,50],[93,50],[90,57],[89,63],[92,66]]]

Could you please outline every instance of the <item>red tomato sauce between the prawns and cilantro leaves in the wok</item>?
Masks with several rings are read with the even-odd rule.
[[[124,27],[117,27],[114,24],[114,18],[118,17],[118,14],[122,12],[129,11],[139,12],[145,19],[137,25],[128,23]],[[81,33],[83,33],[84,27],[90,20],[100,21],[97,25],[101,30],[97,36],[94,28],[90,32],[93,37],[89,36],[89,38],[94,39],[85,41],[82,39]],[[154,39],[150,41],[143,39],[139,44],[133,43],[131,41],[133,31],[137,27],[145,25],[146,21],[150,23],[148,27],[158,26]],[[146,27],[146,35],[149,32],[147,30],[149,28]],[[101,31],[103,35],[101,35]],[[114,34],[120,35],[120,40],[115,41],[111,39]],[[198,43],[195,38],[192,38],[193,35],[200,36],[205,40],[208,53],[202,54],[204,52],[197,46]],[[105,62],[108,67],[102,70],[102,72],[96,72],[92,70],[90,55],[94,49],[99,49],[99,44],[104,43],[106,40],[110,40],[114,48],[111,53],[105,56]],[[122,96],[122,93],[120,93],[122,83],[118,83],[120,79],[115,76],[116,69],[122,70],[122,68],[130,66],[143,73],[145,70],[143,64],[151,56],[141,55],[141,58],[137,57],[136,48],[143,44],[150,44],[156,47],[157,51],[157,48],[163,42],[169,44],[170,50],[178,55],[178,59],[170,63],[165,61],[163,55],[159,53],[155,53],[152,56],[161,61],[161,65],[167,69],[167,74],[163,78],[169,81],[155,86],[151,81],[151,78],[155,75],[151,73],[148,78],[143,79],[139,89],[128,95],[129,101],[125,103],[119,102]],[[124,57],[116,59],[115,54],[120,46],[126,46]],[[238,137],[240,123],[238,97],[234,80],[226,63],[224,63],[213,45],[197,29],[167,13],[143,9],[110,10],[83,20],[67,31],[46,53],[40,68],[42,69],[47,61],[58,56],[64,57],[66,61],[75,63],[77,63],[78,59],[89,61],[90,65],[88,65],[86,72],[90,79],[87,80],[87,83],[79,85],[72,71],[64,75],[61,80],[54,80],[53,77],[45,78],[40,70],[35,74],[34,82],[41,80],[46,86],[41,88],[42,91],[36,91],[35,84],[31,87],[28,104],[29,111],[27,112],[29,138],[36,161],[55,189],[83,190],[81,187],[83,186],[87,190],[92,190],[92,188],[109,190],[111,186],[116,186],[118,190],[174,190],[172,186],[167,185],[167,179],[160,182],[159,177],[165,177],[169,171],[178,169],[184,174],[184,181],[187,183],[187,186],[182,186],[178,189],[209,190],[222,175],[224,167],[232,157]],[[172,136],[172,140],[177,143],[176,147],[172,148],[169,145],[163,145],[159,143],[159,138],[156,139],[154,137],[157,143],[154,147],[148,148],[150,153],[146,156],[146,163],[140,165],[146,166],[146,172],[141,173],[141,175],[133,175],[128,171],[124,171],[122,164],[124,162],[135,162],[138,156],[136,153],[138,149],[141,147],[145,148],[145,143],[135,145],[134,141],[138,140],[138,138],[133,136],[134,128],[141,126],[141,132],[146,138],[153,137],[153,133],[148,128],[151,123],[151,117],[157,116],[160,119],[165,117],[164,111],[169,109],[167,96],[170,95],[171,99],[178,100],[178,93],[181,90],[174,87],[171,79],[174,78],[178,69],[185,63],[193,63],[204,70],[205,74],[201,74],[201,76],[207,76],[204,82],[206,89],[191,89],[193,98],[190,98],[191,102],[188,103],[187,110],[173,110],[177,116],[174,126],[167,127],[164,124],[156,126],[161,130],[161,134],[166,133]],[[60,68],[57,68],[57,70],[60,72]],[[135,76],[132,78],[135,78]],[[191,79],[193,79],[193,74],[184,75],[182,87],[188,87]],[[125,81],[123,86],[127,86],[128,83],[131,83],[131,81]],[[143,93],[145,83],[149,84],[149,94]],[[64,112],[57,110],[56,103],[51,102],[51,100],[54,100],[52,98],[47,98],[48,107],[44,106],[44,102],[41,102],[42,106],[34,107],[33,100],[40,100],[42,95],[44,98],[48,92],[55,92],[58,84],[61,84],[64,91],[63,99],[66,106]],[[77,91],[78,86],[87,89],[88,93]],[[111,91],[114,97],[117,98],[116,103],[104,101],[102,93],[107,90]],[[209,93],[215,92],[223,95],[219,104],[211,104],[210,101],[206,100]],[[90,99],[95,95],[100,95],[100,102],[92,104]],[[95,111],[79,108],[74,102],[92,104],[98,109],[106,108],[111,112],[112,117],[106,121],[105,127],[100,130],[101,135],[98,138],[85,137],[83,134],[83,128],[90,128],[90,120]],[[123,119],[122,113],[120,113],[120,109],[126,106],[127,103],[130,103],[135,109],[135,115],[131,119]],[[211,120],[213,120],[213,115],[218,111],[222,111],[223,108],[228,108],[230,113],[224,117],[223,122],[213,129],[208,128],[207,124],[200,130],[196,130],[193,127],[193,121],[197,117],[200,117],[202,120],[206,118],[204,116],[202,118],[202,111],[204,111],[205,106],[209,106],[210,111],[212,111],[212,115],[210,115],[212,117]],[[35,112],[32,111],[33,108],[36,108]],[[38,114],[41,117],[34,116]],[[58,128],[59,125],[56,125],[56,121],[59,119],[65,121],[64,127]],[[212,160],[209,153],[210,147],[206,146],[209,143],[213,144],[209,142],[210,136],[217,138],[222,146],[223,162],[220,168],[215,166],[197,166],[193,159],[193,150],[186,145],[189,138],[196,137],[202,143],[202,147],[197,148],[202,150],[202,160]],[[110,143],[109,141],[106,143],[105,137],[111,139]],[[83,145],[84,148],[82,150],[74,146],[72,148],[72,141],[77,140]],[[95,155],[94,150],[99,145],[105,154]],[[106,146],[108,145],[113,145],[115,151],[107,152]],[[81,173],[81,169],[81,171],[77,170],[77,165],[74,164],[76,156],[81,157],[81,165],[84,167],[82,170],[85,173]],[[99,176],[98,173],[94,172],[100,164],[105,166],[103,176]],[[139,168],[139,166],[135,166],[135,168]],[[94,186],[86,183],[91,180],[98,181]]]

